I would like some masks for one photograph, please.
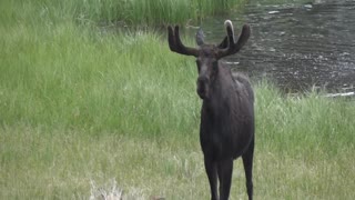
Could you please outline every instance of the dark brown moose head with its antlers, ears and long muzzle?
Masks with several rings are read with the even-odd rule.
[[[174,29],[172,27],[168,27],[170,50],[180,54],[194,56],[196,58],[199,70],[196,91],[201,99],[209,98],[211,84],[219,73],[219,60],[239,52],[246,43],[251,34],[250,27],[244,24],[241,36],[235,42],[234,30],[231,20],[226,20],[224,24],[227,36],[220,44],[205,43],[203,31],[200,29],[196,33],[196,43],[199,48],[185,47],[182,43],[180,39],[179,26],[175,26]]]

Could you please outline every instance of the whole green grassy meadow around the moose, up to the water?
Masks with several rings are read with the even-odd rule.
[[[194,59],[98,26],[118,2],[0,2],[0,199],[209,199]],[[355,102],[254,88],[255,199],[353,199]],[[237,160],[231,199],[244,181]]]

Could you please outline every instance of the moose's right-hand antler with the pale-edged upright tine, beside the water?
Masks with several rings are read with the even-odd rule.
[[[227,47],[225,49],[221,49],[217,52],[217,58],[221,59],[223,57],[227,57],[231,54],[234,54],[236,52],[239,52],[242,47],[246,43],[248,37],[251,36],[251,28],[247,24],[243,26],[241,36],[237,40],[237,42],[234,42],[234,30],[233,30],[233,24],[231,20],[226,20],[224,22],[225,27],[226,27],[226,38],[222,41],[222,43],[219,47],[223,47],[225,46],[226,39],[227,39]]]

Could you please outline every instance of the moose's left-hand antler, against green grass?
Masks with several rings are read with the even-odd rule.
[[[199,56],[197,49],[185,47],[182,43],[180,39],[180,33],[179,33],[179,26],[175,26],[174,30],[171,26],[169,26],[168,32],[169,32],[168,41],[169,41],[169,47],[171,51],[174,51],[181,54],[186,54],[186,56],[194,56],[194,57]]]

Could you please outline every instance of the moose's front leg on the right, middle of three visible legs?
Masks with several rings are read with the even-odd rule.
[[[231,191],[233,159],[219,162],[220,200],[227,200]]]

